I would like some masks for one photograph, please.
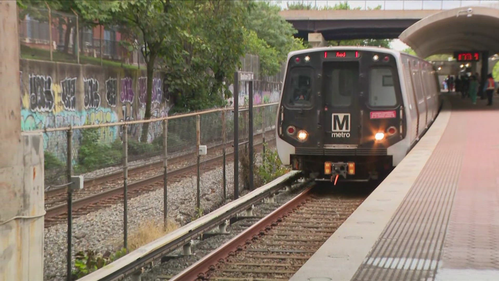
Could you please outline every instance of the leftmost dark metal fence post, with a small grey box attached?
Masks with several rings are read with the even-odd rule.
[[[71,280],[71,236],[72,236],[72,202],[73,202],[73,189],[71,187],[71,175],[73,173],[72,168],[72,137],[73,130],[69,128],[67,130],[67,156],[66,156],[66,175],[67,175],[67,261],[66,261],[66,280]]]

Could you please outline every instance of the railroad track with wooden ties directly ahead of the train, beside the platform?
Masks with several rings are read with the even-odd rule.
[[[189,268],[157,279],[288,280],[368,195],[349,193],[311,186]]]

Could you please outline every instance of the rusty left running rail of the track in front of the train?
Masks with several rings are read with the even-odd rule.
[[[239,233],[216,250],[210,252],[208,255],[184,269],[184,271],[170,278],[169,281],[191,281],[198,278],[202,278],[203,280],[209,278],[210,272],[220,267],[221,260],[224,260],[231,253],[235,253],[242,249],[242,245],[248,244],[248,242],[253,239],[254,235],[257,235],[260,231],[264,231],[272,222],[280,221],[287,212],[298,205],[303,204],[312,188],[313,185],[309,186],[300,194],[246,228],[243,232]]]

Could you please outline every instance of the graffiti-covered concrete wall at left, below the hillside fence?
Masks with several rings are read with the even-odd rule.
[[[42,129],[142,119],[146,103],[145,70],[74,63],[20,60],[21,128]],[[170,98],[161,73],[154,73],[152,114],[167,116]],[[138,137],[141,126],[130,126]],[[117,127],[100,129],[100,140],[119,137]],[[75,145],[80,136],[74,132]],[[152,127],[148,140],[161,134]],[[65,158],[65,132],[45,134],[45,150]],[[64,146],[64,149],[61,146]],[[75,147],[76,148],[76,147]],[[59,155],[60,154],[60,155]]]

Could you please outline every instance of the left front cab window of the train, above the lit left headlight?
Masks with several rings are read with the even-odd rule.
[[[312,98],[312,68],[291,68],[286,85],[287,103],[290,105],[309,105]]]

